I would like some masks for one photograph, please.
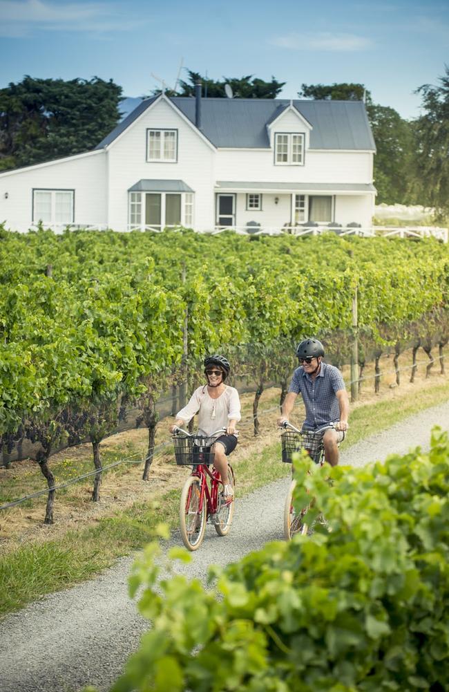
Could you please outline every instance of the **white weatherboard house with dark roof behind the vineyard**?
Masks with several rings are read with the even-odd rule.
[[[0,221],[130,230],[372,223],[360,101],[143,100],[91,152],[0,174]]]

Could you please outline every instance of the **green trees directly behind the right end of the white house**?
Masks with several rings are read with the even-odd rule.
[[[414,141],[412,125],[393,108],[375,104],[364,84],[302,84],[299,96],[320,100],[365,101],[376,143],[374,182],[377,203],[411,201]]]

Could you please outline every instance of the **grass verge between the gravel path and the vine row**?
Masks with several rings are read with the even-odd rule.
[[[389,401],[360,405],[350,416],[345,446],[400,422],[425,408],[449,399],[449,384],[421,390],[419,397],[404,395]],[[234,464],[237,498],[290,471],[280,462],[280,443],[267,445]],[[180,491],[165,493],[156,503],[139,503],[95,524],[69,531],[46,543],[24,545],[0,561],[0,614],[23,608],[44,594],[89,579],[119,556],[143,547],[159,522],[176,527]]]

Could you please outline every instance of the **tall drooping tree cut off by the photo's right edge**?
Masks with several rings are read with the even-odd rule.
[[[423,84],[415,92],[425,111],[414,122],[416,187],[439,217],[449,213],[449,66],[444,67],[440,86]]]

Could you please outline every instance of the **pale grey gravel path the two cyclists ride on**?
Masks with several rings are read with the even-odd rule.
[[[343,447],[340,462],[363,466],[393,452],[428,448],[434,425],[449,430],[449,402]],[[180,571],[201,577],[210,564],[224,565],[269,540],[282,539],[287,485],[283,479],[237,500],[230,536],[219,538],[208,527],[203,546]],[[181,543],[176,534],[173,540]],[[1,692],[75,692],[86,684],[109,689],[146,627],[127,595],[131,562],[124,558],[93,581],[44,597],[1,621]]]

